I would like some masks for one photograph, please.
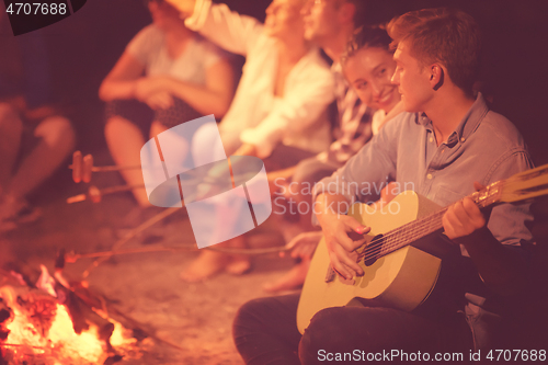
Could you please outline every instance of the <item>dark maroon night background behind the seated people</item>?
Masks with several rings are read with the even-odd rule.
[[[263,20],[270,0],[226,3]],[[480,79],[492,95],[492,109],[518,127],[535,162],[547,163],[548,146],[544,139],[548,130],[545,80],[548,1],[378,0],[370,1],[367,21],[378,23],[409,10],[441,5],[458,7],[478,20],[484,42]],[[84,152],[105,148],[103,107],[98,98],[102,79],[128,41],[150,22],[140,0],[89,0],[70,18],[39,31],[45,35],[50,57],[53,94],[67,106],[78,130],[78,148]],[[1,30],[0,41],[13,42],[5,22]],[[19,36],[18,41],[35,36],[33,32]]]

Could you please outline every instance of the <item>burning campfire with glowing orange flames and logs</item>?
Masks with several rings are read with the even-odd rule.
[[[109,318],[98,297],[45,266],[36,285],[0,272],[0,365],[114,364],[138,358],[133,331]]]

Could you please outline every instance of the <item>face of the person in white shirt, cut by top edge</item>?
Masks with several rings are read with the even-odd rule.
[[[266,20],[264,21],[266,34],[282,39],[304,37],[301,4],[301,0],[273,0],[266,8]]]

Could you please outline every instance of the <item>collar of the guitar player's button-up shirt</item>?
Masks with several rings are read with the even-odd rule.
[[[447,138],[447,145],[454,145],[457,141],[464,142],[468,137],[478,128],[483,117],[489,112],[486,100],[481,92],[478,92],[478,96],[473,102],[472,106],[468,110],[466,115],[463,117],[457,128]],[[423,125],[426,129],[432,129],[432,121],[424,113],[416,113],[416,124]]]

